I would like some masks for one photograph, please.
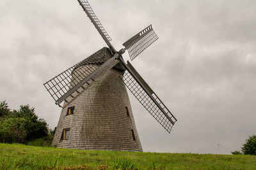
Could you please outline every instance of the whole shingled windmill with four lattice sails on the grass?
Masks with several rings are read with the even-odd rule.
[[[170,133],[177,121],[143,80],[131,60],[158,39],[149,25],[117,51],[86,0],[77,0],[108,48],[104,47],[44,83],[62,107],[52,145],[88,150],[142,151],[127,89]]]

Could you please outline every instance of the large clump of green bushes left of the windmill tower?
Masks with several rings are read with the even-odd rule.
[[[1,143],[24,143],[47,134],[47,123],[37,117],[35,108],[21,105],[19,110],[12,111],[5,101],[0,103]]]

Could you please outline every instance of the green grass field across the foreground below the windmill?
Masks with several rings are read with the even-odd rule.
[[[0,143],[0,169],[256,169],[256,156],[68,150]]]

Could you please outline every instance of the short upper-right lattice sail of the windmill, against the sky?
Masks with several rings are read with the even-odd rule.
[[[128,50],[130,59],[133,60],[157,39],[156,32],[153,30],[152,25],[149,25],[123,45],[125,46],[125,50]]]

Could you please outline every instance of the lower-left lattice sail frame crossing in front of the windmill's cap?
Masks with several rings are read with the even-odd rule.
[[[58,102],[61,97],[67,94],[70,89],[75,87],[78,83],[80,83],[80,81],[88,77],[101,64],[108,60],[107,56],[109,51],[106,49],[107,48],[104,50],[103,48],[102,50],[93,53],[93,55],[90,57],[82,60],[76,65],[58,74],[58,76],[55,76],[51,80],[44,83],[45,88],[51,94],[56,104],[61,106],[61,102]],[[87,89],[93,83],[93,81],[93,79],[90,79],[84,83],[84,85],[79,87],[79,89],[70,94],[69,97],[65,98],[65,105],[76,99],[76,97],[79,96],[79,94],[81,94],[81,92],[83,92],[85,89]]]

